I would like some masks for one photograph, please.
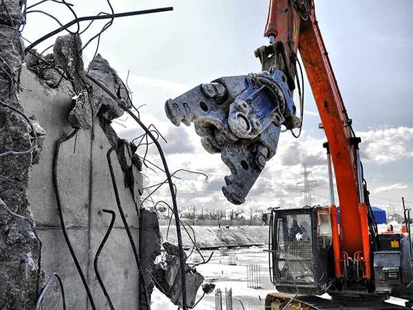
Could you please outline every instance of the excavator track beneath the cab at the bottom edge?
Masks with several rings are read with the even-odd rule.
[[[348,301],[335,301],[318,296],[295,296],[286,293],[270,293],[265,300],[266,310],[392,310],[410,307],[398,306],[388,302],[360,301],[358,299]]]

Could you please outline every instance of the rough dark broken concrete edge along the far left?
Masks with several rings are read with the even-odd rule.
[[[0,101],[23,111],[19,99],[23,43],[17,28],[23,22],[20,1],[5,0],[0,7]],[[0,105],[0,154],[30,149],[28,123]],[[32,154],[0,157],[0,198],[11,211],[33,220],[27,189]],[[28,222],[0,207],[0,309],[33,309],[39,262],[39,241]],[[42,282],[43,274],[40,274]],[[41,283],[40,283],[41,285]]]

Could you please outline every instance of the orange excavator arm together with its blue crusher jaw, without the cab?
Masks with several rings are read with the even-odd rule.
[[[337,86],[328,53],[321,39],[313,1],[272,0],[264,35],[270,45],[255,50],[262,72],[230,76],[198,85],[165,103],[175,125],[195,124],[202,145],[210,153],[221,153],[231,169],[222,187],[231,203],[245,197],[266,162],[275,155],[282,126],[301,132],[303,87],[297,73],[297,51],[308,76],[328,143],[340,203],[338,229],[332,194],[332,233],[335,275],[342,276],[341,255],[359,253],[364,277],[372,277],[368,207],[365,204],[359,138],[354,136]],[[299,65],[300,68],[301,65]],[[296,85],[297,83],[297,85]],[[293,91],[298,89],[301,117],[296,116]],[[296,135],[293,132],[293,135]],[[330,171],[332,171],[330,167]]]

